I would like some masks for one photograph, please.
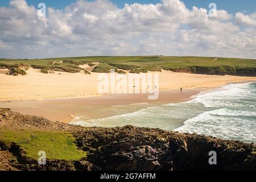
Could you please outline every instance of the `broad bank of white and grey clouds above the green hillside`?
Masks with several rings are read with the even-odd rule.
[[[39,14],[25,0],[0,7],[0,57],[92,55],[256,56],[256,14],[189,10],[180,0],[156,5],[80,0]],[[246,28],[244,27],[246,25]],[[8,50],[8,51],[6,51]]]

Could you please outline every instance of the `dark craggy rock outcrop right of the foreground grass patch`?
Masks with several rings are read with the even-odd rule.
[[[89,129],[77,144],[104,170],[255,170],[255,145],[133,126]],[[209,152],[217,165],[209,164]]]

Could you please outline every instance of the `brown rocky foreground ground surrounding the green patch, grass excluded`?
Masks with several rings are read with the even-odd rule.
[[[0,109],[0,128],[68,131],[89,152],[80,161],[47,160],[39,166],[15,143],[0,141],[0,170],[255,170],[255,144],[133,126],[86,128]],[[1,133],[0,133],[1,134]],[[217,165],[209,165],[209,151]]]

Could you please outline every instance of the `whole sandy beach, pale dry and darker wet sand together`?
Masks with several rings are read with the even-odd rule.
[[[88,119],[110,117],[115,113],[106,108],[111,106],[145,102],[182,102],[189,100],[201,90],[234,82],[256,81],[255,77],[163,71],[159,72],[159,98],[150,101],[147,94],[99,94],[97,77],[100,73],[43,74],[38,69],[28,70],[26,76],[8,76],[3,74],[4,71],[1,73],[0,107],[61,122],[70,122],[79,113],[85,113]],[[180,87],[183,88],[182,93]]]

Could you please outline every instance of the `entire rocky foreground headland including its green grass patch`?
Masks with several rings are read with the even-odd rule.
[[[174,171],[195,169],[195,163],[200,162],[201,165],[197,166],[197,170],[205,170],[205,167],[209,170],[216,170],[216,167],[205,166],[204,161],[208,161],[208,157],[202,160],[201,154],[208,154],[212,150],[217,151],[217,156],[224,160],[224,165],[217,166],[218,170],[255,169],[251,165],[251,161],[255,160],[254,143],[147,127],[82,127],[53,123],[44,118],[1,109],[0,118],[2,119],[0,122],[1,142],[5,146],[0,149],[0,169],[2,170],[97,171],[103,169],[113,171],[129,170],[131,167],[135,171],[166,170],[170,169],[170,155],[174,156],[171,158],[171,163],[182,160],[181,165],[171,168]],[[32,142],[19,142],[24,137],[31,138]],[[64,139],[60,140],[60,138]],[[77,147],[71,148],[70,141]],[[18,147],[12,147],[10,143],[16,143]],[[99,147],[102,150],[98,150]],[[20,148],[23,150],[19,150]],[[152,149],[157,152],[152,152]],[[49,154],[47,156],[52,156],[50,159],[47,158],[47,164],[43,168],[38,167],[36,160],[38,155],[35,151],[40,150],[47,151]],[[86,158],[84,155],[79,155],[70,160],[70,156],[81,154],[81,151],[92,155],[86,155]],[[100,153],[95,151],[100,151]],[[67,152],[69,152],[68,155]],[[62,155],[59,157],[55,154]],[[152,166],[152,163],[148,163],[148,158],[153,159],[158,165]],[[183,163],[185,165],[182,165]]]

